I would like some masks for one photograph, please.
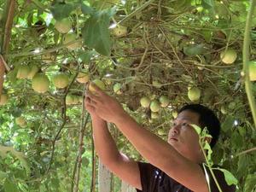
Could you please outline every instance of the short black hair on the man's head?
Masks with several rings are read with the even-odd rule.
[[[216,114],[210,108],[201,104],[185,105],[183,108],[179,109],[178,113],[181,113],[184,110],[189,110],[199,114],[199,124],[201,128],[207,127],[208,133],[212,136],[210,146],[213,148],[217,143],[220,132],[220,122]]]

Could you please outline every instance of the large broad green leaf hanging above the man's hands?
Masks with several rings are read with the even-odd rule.
[[[91,15],[82,29],[84,44],[89,48],[96,49],[102,55],[110,55],[111,39],[108,30],[113,9],[102,10]]]

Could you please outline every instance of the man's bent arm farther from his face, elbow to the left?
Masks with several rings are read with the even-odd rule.
[[[119,153],[106,121],[99,118],[85,101],[85,108],[90,112],[93,126],[93,139],[96,153],[102,163],[115,175],[125,180],[131,186],[141,189],[140,173],[137,162],[130,160],[125,154]]]

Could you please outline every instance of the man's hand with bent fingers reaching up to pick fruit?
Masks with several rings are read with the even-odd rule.
[[[99,116],[100,118],[114,123],[117,119],[125,115],[125,110],[119,102],[112,96],[108,96],[96,84],[92,84],[95,88],[94,93],[88,90],[85,96],[85,108],[91,116]]]

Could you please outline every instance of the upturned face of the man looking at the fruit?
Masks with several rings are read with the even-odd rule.
[[[178,113],[177,118],[173,120],[172,128],[168,134],[168,143],[172,145],[180,154],[187,158],[197,159],[201,153],[199,137],[195,129],[189,125],[199,125],[199,114],[184,110]]]

